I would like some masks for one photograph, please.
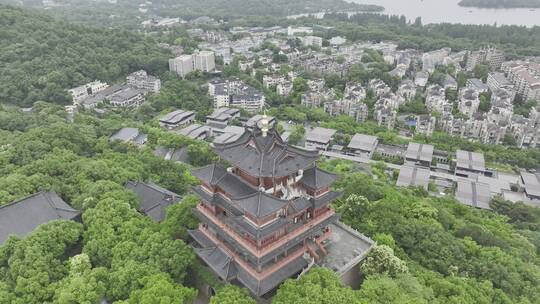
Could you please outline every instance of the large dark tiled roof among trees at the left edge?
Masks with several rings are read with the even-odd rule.
[[[24,237],[41,224],[54,220],[73,220],[80,212],[71,208],[54,192],[39,192],[0,207],[0,244],[10,234]]]

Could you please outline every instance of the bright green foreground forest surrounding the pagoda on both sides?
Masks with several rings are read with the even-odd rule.
[[[191,147],[194,166],[213,160],[204,143],[161,131],[136,113],[96,118],[39,102],[32,113],[0,108],[0,204],[52,189],[82,210],[82,223],[52,222],[0,247],[2,303],[192,303],[197,282],[218,287],[213,304],[252,304],[246,291],[223,285],[201,267],[186,229],[196,179],[189,165],[155,157],[157,145]],[[8,118],[8,119],[6,119]],[[145,148],[110,143],[122,126],[149,134]],[[206,158],[195,156],[207,155]],[[535,303],[540,296],[540,210],[501,200],[494,212],[451,197],[399,189],[384,165],[370,169],[331,161],[321,166],[342,178],[335,203],[342,220],[378,242],[360,266],[359,290],[331,271],[314,268],[285,282],[273,303]],[[128,180],[153,181],[185,195],[164,222],[139,214]]]

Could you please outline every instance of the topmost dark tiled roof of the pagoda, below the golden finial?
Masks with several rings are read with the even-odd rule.
[[[311,166],[317,151],[289,146],[275,129],[263,136],[259,129],[245,132],[231,143],[215,143],[216,153],[252,176],[281,177]]]

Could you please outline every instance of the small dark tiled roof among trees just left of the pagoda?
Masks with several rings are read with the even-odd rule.
[[[126,183],[126,188],[137,194],[140,202],[139,212],[158,222],[165,219],[167,207],[182,199],[180,195],[154,183],[129,181]]]

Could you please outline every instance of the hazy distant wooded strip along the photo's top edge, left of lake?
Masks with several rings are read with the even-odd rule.
[[[0,0],[0,3],[43,9],[40,0]],[[155,16],[182,17],[191,19],[199,16],[220,18],[245,16],[287,16],[321,11],[369,11],[379,12],[383,7],[358,4],[344,0],[155,0],[152,2],[115,1],[114,3],[85,0],[56,0],[44,12],[62,20],[99,26],[138,27],[140,22]]]

